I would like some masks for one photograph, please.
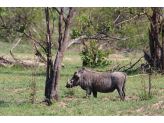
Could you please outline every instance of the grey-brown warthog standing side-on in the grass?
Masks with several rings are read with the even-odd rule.
[[[125,82],[126,74],[123,72],[97,73],[81,68],[75,71],[70,81],[67,79],[66,87],[72,88],[79,85],[83,90],[86,90],[87,96],[93,92],[93,96],[96,98],[97,92],[108,93],[117,89],[120,100],[124,100]]]

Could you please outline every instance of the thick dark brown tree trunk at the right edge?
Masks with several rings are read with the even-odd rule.
[[[160,7],[151,7],[153,15],[150,16],[146,11],[145,14],[150,21],[151,29],[149,29],[149,47],[150,56],[148,63],[156,70],[164,72],[164,18],[162,16],[162,9]],[[162,20],[160,19],[162,17]],[[159,42],[159,36],[162,29],[162,45]],[[145,54],[145,52],[144,52]],[[146,55],[145,55],[146,56]],[[148,55],[147,55],[148,56]]]

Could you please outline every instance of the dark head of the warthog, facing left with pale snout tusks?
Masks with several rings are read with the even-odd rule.
[[[78,71],[75,71],[75,73],[74,73],[74,75],[73,75],[73,77],[72,77],[72,79],[70,81],[67,79],[67,84],[66,84],[67,88],[72,88],[74,86],[78,86],[79,85],[79,80],[80,80],[81,74],[83,73],[84,69],[85,68],[82,68],[82,69],[80,69]]]

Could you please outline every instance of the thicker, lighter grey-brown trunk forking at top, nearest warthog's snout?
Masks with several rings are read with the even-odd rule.
[[[67,18],[64,17],[64,8],[61,7],[61,11],[58,10],[58,8],[55,8],[58,13],[60,14],[59,17],[59,49],[56,55],[55,63],[54,63],[54,72],[53,72],[53,78],[51,83],[51,93],[50,98],[55,101],[59,101],[59,78],[60,78],[60,72],[61,72],[61,62],[64,57],[65,50],[68,45],[68,39],[69,39],[69,32],[70,32],[70,26],[71,26],[71,19],[73,17],[74,7],[70,7],[69,14]],[[63,33],[62,30],[62,22],[65,22],[65,31]]]

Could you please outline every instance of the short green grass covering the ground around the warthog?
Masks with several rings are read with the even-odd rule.
[[[2,51],[2,49],[1,49]],[[4,53],[4,52],[3,52]],[[70,58],[71,60],[67,60]],[[135,62],[135,61],[133,61]],[[33,82],[34,68],[0,67],[0,116],[104,116],[104,115],[164,115],[164,77],[152,75],[152,99],[143,100],[143,85],[148,91],[148,76],[129,77],[126,81],[126,98],[120,101],[118,92],[99,93],[98,98],[92,95],[86,97],[86,92],[79,86],[72,89],[65,87],[67,78],[71,79],[74,72],[82,67],[80,56],[76,53],[66,52],[59,84],[59,103],[46,106],[39,103],[44,100],[44,88],[46,69],[37,67],[36,73],[36,100],[30,102],[30,84]],[[126,61],[124,64],[127,64]],[[113,64],[116,64],[113,62]],[[107,70],[108,68],[96,68],[95,70]],[[130,71],[128,76],[137,74]]]

